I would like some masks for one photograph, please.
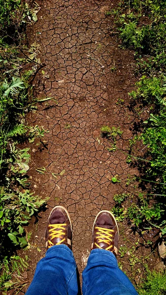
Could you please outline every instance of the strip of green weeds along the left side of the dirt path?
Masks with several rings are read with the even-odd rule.
[[[38,63],[38,47],[33,44],[29,50],[20,41],[26,22],[37,20],[38,9],[27,0],[0,0],[0,289],[4,294],[25,285],[18,277],[28,267],[28,257],[14,254],[28,246],[24,227],[47,201],[30,191],[29,148],[21,148],[27,139],[39,138],[41,144],[47,132],[25,124],[27,112],[36,107],[29,84],[35,69],[32,64],[31,69],[24,68],[29,60]]]

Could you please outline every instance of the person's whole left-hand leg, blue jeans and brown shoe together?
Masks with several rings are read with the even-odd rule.
[[[64,207],[55,207],[48,218],[46,256],[36,267],[26,295],[77,295],[76,264],[71,251],[71,221]]]

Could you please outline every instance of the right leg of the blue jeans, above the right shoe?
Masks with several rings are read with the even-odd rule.
[[[82,273],[83,295],[137,295],[113,253],[94,249]]]

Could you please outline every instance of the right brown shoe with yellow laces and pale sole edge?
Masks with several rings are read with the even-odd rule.
[[[119,231],[114,215],[107,210],[100,211],[95,218],[92,231],[92,250],[104,249],[118,254]]]

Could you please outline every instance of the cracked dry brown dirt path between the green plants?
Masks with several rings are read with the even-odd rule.
[[[115,1],[116,2],[116,1]],[[133,54],[123,51],[111,20],[105,11],[113,7],[107,0],[43,0],[38,22],[30,32],[30,45],[40,45],[44,68],[33,84],[37,97],[54,97],[31,113],[31,125],[48,129],[46,148],[32,144],[30,175],[33,190],[49,196],[48,209],[33,224],[32,258],[29,279],[36,263],[45,254],[45,226],[51,209],[65,206],[73,224],[73,253],[79,271],[86,265],[91,247],[91,232],[96,214],[110,210],[115,193],[127,190],[128,175],[135,171],[126,163],[133,114],[126,107],[128,92],[134,84]],[[125,105],[117,105],[118,98]],[[56,101],[55,101],[56,100]],[[100,136],[100,127],[120,127],[118,149],[109,152],[108,139]],[[41,175],[36,168],[45,167]],[[52,175],[56,174],[56,177]],[[119,183],[111,177],[118,175]]]

